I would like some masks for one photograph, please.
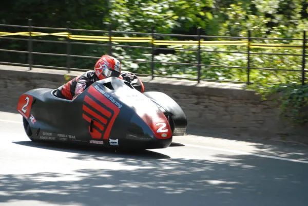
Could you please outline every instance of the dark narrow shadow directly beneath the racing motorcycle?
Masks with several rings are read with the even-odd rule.
[[[97,157],[127,157],[138,159],[169,159],[167,155],[163,155],[153,151],[123,151],[112,148],[103,148],[100,146],[88,146],[78,144],[61,144],[55,142],[32,142],[32,141],[18,141],[15,144],[30,146],[41,149],[49,149],[53,151],[69,152],[81,155],[93,155]]]

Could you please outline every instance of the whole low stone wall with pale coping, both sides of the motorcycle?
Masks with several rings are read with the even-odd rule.
[[[0,65],[0,110],[14,111],[18,97],[33,88],[57,88],[66,82],[64,71]],[[71,73],[75,77],[78,72]],[[187,132],[204,135],[300,139],[306,128],[292,128],[279,118],[278,105],[261,101],[241,85],[141,78],[146,91],[162,91],[178,102],[187,119]],[[308,139],[308,138],[307,138]]]

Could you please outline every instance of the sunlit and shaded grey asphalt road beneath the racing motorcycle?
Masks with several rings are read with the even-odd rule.
[[[308,147],[201,136],[142,153],[31,142],[0,113],[0,205],[307,205]]]

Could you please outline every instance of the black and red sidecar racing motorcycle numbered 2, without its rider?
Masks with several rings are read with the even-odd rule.
[[[186,116],[173,99],[157,91],[141,93],[119,78],[94,82],[72,101],[54,92],[32,89],[18,101],[32,141],[153,149],[168,147],[173,136],[186,131]]]

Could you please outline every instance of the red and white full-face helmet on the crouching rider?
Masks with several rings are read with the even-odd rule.
[[[108,77],[119,77],[121,73],[121,63],[119,60],[103,55],[95,64],[94,72],[100,80]]]

